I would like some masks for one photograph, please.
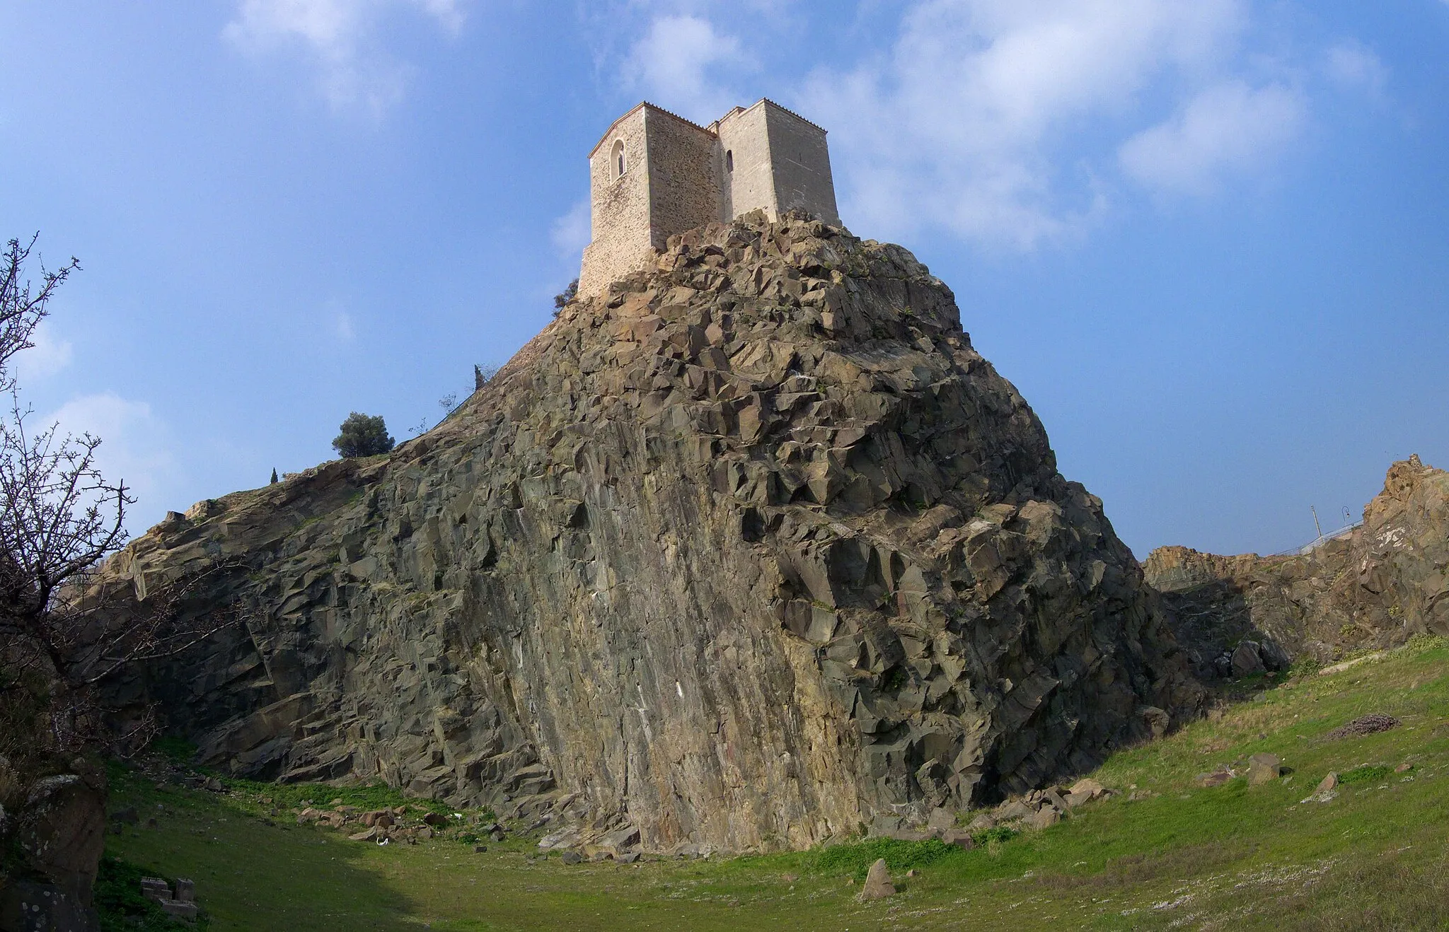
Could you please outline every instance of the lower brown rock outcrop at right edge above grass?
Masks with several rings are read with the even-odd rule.
[[[1449,635],[1449,473],[1394,463],[1359,527],[1295,556],[1159,547],[1143,566],[1204,677]]]

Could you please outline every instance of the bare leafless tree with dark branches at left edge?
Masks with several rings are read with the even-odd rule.
[[[229,609],[181,611],[206,576],[225,567],[161,586],[146,599],[117,598],[129,593],[99,582],[103,560],[126,541],[126,509],[135,499],[125,482],[101,475],[99,437],[28,425],[14,356],[35,344],[46,304],[80,268],[74,258],[55,272],[42,266],[35,287],[25,276],[33,247],[35,237],[10,240],[0,256],[0,391],[10,395],[0,415],[0,729],[12,732],[0,745],[41,741],[0,747],[12,754],[68,753],[94,742],[103,718],[97,683],[238,621]],[[32,728],[14,721],[14,709],[36,713]]]

